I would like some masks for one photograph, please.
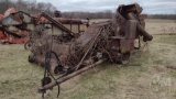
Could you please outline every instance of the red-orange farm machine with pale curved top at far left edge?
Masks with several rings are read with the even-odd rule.
[[[8,9],[3,15],[0,16],[0,41],[1,43],[9,43],[9,44],[19,44],[19,43],[25,43],[29,41],[29,32],[25,30],[20,30],[18,28],[20,19],[16,16],[13,16],[13,20],[9,19],[10,15],[15,13],[14,8]]]

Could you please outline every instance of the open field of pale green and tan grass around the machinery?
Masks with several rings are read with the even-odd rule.
[[[146,20],[151,34],[169,32],[174,20]],[[166,33],[167,31],[165,31]],[[23,45],[0,45],[0,99],[41,99],[44,69],[28,63]],[[59,99],[176,99],[176,35],[155,35],[128,65],[105,63],[61,85]],[[45,99],[56,99],[57,87]]]

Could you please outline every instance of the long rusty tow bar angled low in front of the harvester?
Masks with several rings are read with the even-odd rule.
[[[77,75],[79,75],[79,74],[81,74],[81,73],[84,73],[84,72],[86,72],[86,70],[88,70],[88,69],[90,69],[90,68],[92,68],[92,67],[98,66],[99,64],[101,64],[101,63],[103,63],[103,62],[106,62],[106,61],[107,61],[106,58],[100,59],[99,62],[97,62],[97,63],[95,63],[95,64],[91,64],[91,65],[89,65],[89,66],[87,66],[87,67],[84,67],[84,68],[81,68],[81,69],[79,69],[79,70],[70,74],[70,75],[67,75],[67,76],[65,76],[65,77],[62,77],[62,78],[57,79],[57,82],[56,82],[56,81],[53,81],[53,82],[51,82],[51,84],[48,84],[48,85],[45,85],[45,86],[43,86],[43,87],[40,87],[40,88],[38,88],[38,92],[43,92],[43,91],[45,91],[45,90],[47,90],[47,89],[51,89],[51,88],[53,88],[54,86],[57,86],[57,84],[62,84],[62,82],[64,82],[64,81],[66,81],[66,80],[68,80],[68,79],[70,79],[70,78],[73,78],[73,77],[75,77],[75,76],[77,76]]]

